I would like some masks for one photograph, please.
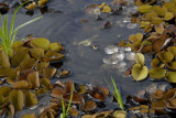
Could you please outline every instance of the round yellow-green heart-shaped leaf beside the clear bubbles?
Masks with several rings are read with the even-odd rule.
[[[142,66],[141,64],[135,64],[132,67],[132,77],[135,81],[142,81],[147,77],[148,68],[146,66]]]

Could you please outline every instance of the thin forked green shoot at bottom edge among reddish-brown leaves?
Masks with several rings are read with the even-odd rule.
[[[72,93],[70,93],[70,98],[69,98],[67,109],[65,108],[64,98],[62,97],[63,112],[61,114],[61,118],[67,118],[68,111],[69,111],[69,108],[70,108],[70,104],[73,101],[73,95],[74,95],[74,88],[72,89]]]

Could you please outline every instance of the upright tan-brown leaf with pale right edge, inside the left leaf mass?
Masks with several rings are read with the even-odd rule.
[[[32,88],[38,88],[40,87],[40,76],[36,71],[32,72],[28,76],[28,81]]]

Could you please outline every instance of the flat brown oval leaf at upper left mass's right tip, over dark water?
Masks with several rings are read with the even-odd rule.
[[[45,62],[54,62],[54,61],[61,61],[65,57],[64,54],[56,53],[54,51],[47,51],[43,57],[43,61]]]

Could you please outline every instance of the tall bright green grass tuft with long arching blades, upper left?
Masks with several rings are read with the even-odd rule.
[[[15,21],[15,15],[16,15],[16,12],[19,11],[19,9],[25,4],[26,2],[22,3],[21,6],[18,7],[18,9],[14,11],[13,13],[13,17],[12,17],[12,20],[11,20],[11,25],[10,25],[10,30],[9,30],[9,25],[8,25],[8,14],[6,14],[4,17],[2,17],[2,14],[0,14],[0,18],[1,18],[1,28],[0,28],[0,39],[1,39],[1,42],[0,44],[2,45],[4,52],[9,55],[9,52],[10,52],[10,49],[11,49],[11,45],[13,44],[13,42],[15,41],[15,36],[16,36],[16,33],[18,31],[43,18],[43,17],[38,17],[38,18],[35,18],[33,20],[30,20],[28,22],[24,22],[23,24],[19,25],[18,28],[14,29],[14,21]]]

